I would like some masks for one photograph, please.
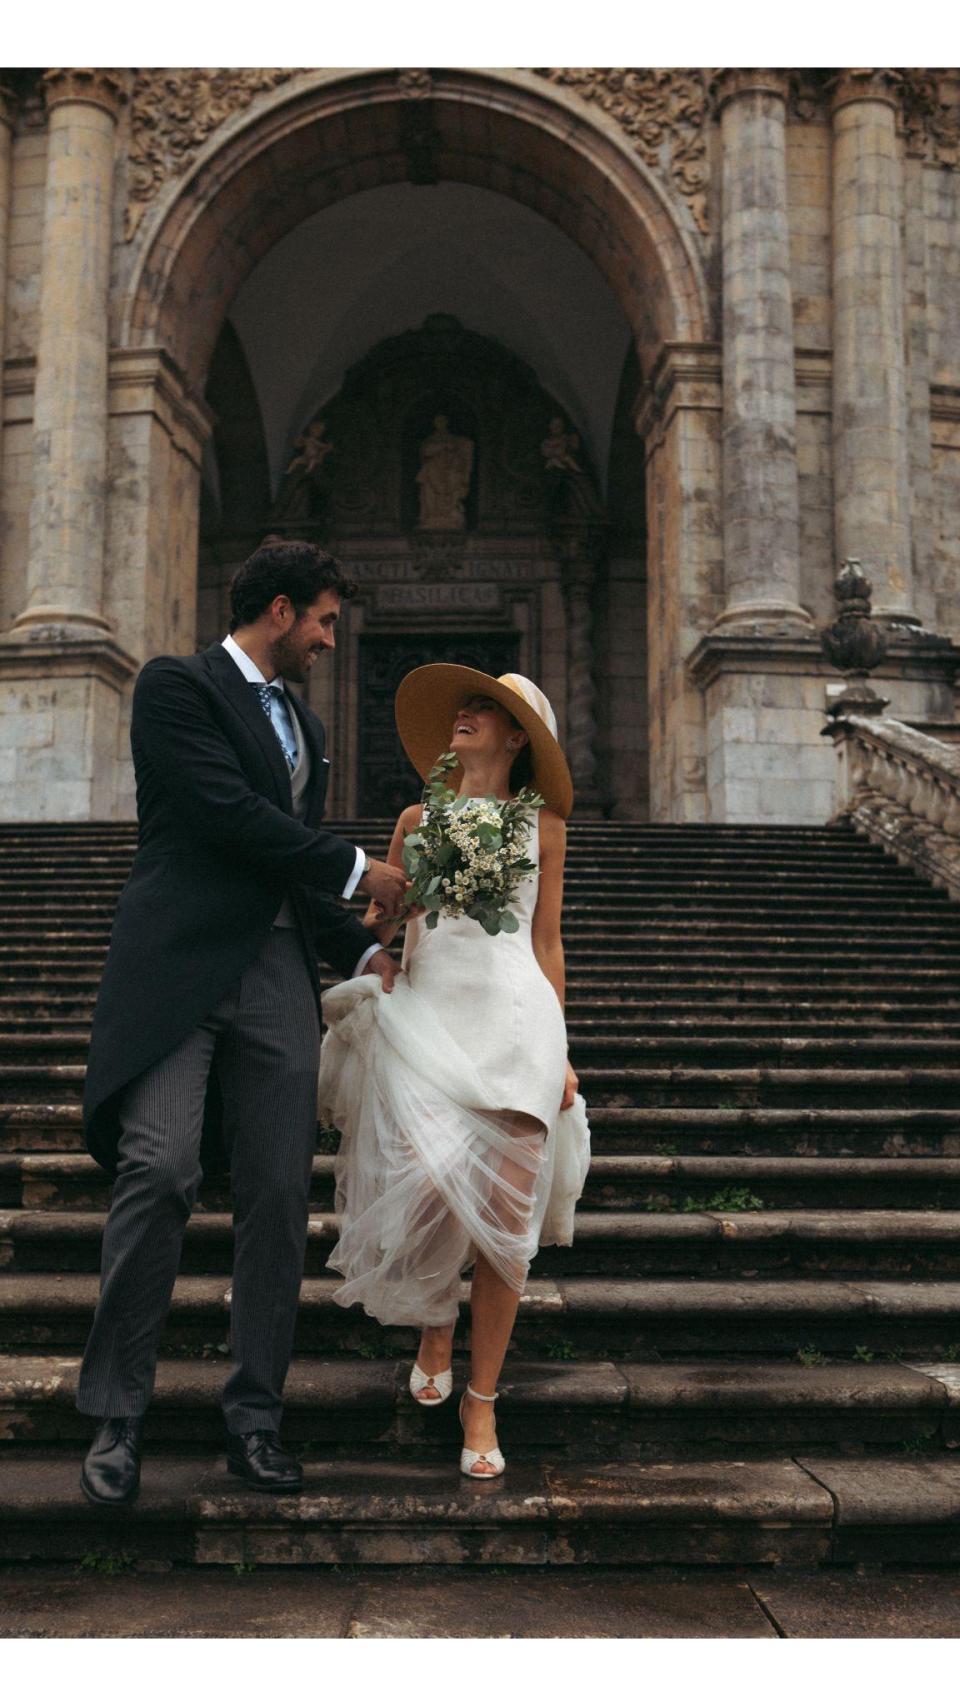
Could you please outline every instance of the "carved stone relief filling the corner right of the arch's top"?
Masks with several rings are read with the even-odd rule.
[[[575,89],[631,138],[641,160],[668,177],[706,232],[708,72],[675,68],[559,67],[537,75]]]

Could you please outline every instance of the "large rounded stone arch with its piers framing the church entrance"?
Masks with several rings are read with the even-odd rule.
[[[651,515],[651,812],[699,817],[703,698],[684,659],[721,595],[704,244],[682,194],[600,107],[534,72],[298,73],[227,119],[160,186],[126,246],[114,350],[130,363],[150,351],[160,380],[196,403],[230,302],[271,246],[333,201],[402,181],[459,181],[530,206],[590,256],[622,305],[641,375]],[[189,650],[200,457],[174,454],[143,415],[114,418],[111,432],[107,614],[135,655]],[[138,585],[131,561],[143,563]],[[583,595],[578,607],[588,607]],[[581,682],[583,669],[580,647]]]

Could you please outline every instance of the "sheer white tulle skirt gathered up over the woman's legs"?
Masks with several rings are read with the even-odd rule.
[[[334,1300],[384,1326],[445,1326],[477,1250],[522,1291],[539,1244],[573,1242],[590,1163],[583,1099],[549,1129],[494,1107],[404,978],[390,995],[375,976],[338,984],[324,1018],[319,1109],[341,1131]]]

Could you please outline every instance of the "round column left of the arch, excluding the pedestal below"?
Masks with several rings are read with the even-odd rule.
[[[10,635],[107,635],[107,292],[123,72],[44,73],[49,113],[27,606]]]

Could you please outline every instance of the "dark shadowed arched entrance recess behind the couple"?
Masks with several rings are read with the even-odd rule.
[[[268,529],[317,539],[346,563],[361,595],[336,659],[310,682],[334,739],[334,810],[367,812],[385,786],[373,747],[389,660],[469,657],[544,684],[561,732],[580,734],[587,809],[645,814],[641,766],[621,769],[614,790],[607,780],[610,720],[636,730],[645,694],[639,459],[629,539],[622,478],[612,490],[614,628],[634,669],[614,676],[604,701],[597,670],[576,728],[568,717],[566,558],[580,544],[588,560],[590,633],[576,640],[592,643],[607,609],[605,474],[629,348],[622,310],[583,252],[539,215],[472,186],[348,198],[281,239],[244,281],[206,387],[217,426],[198,640],[223,633],[228,578]],[[431,520],[419,474],[438,418],[469,447],[471,473],[460,514]]]

